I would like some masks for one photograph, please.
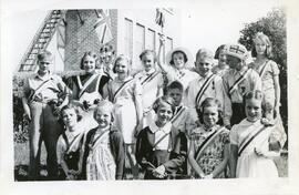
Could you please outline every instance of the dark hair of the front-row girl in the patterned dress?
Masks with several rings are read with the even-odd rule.
[[[217,121],[217,124],[219,125],[223,125],[224,122],[223,122],[223,107],[221,107],[221,103],[217,100],[217,99],[214,99],[214,98],[206,98],[200,106],[196,107],[196,112],[197,112],[197,115],[198,115],[198,119],[199,119],[199,122],[203,124],[204,123],[204,110],[205,107],[209,107],[209,106],[216,106],[217,110],[218,110],[218,121]]]

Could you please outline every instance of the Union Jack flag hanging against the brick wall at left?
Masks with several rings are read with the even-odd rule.
[[[99,20],[94,24],[94,30],[100,39],[101,44],[105,44],[110,42],[113,37],[110,29],[110,16],[109,10],[101,10],[100,13],[97,12]]]

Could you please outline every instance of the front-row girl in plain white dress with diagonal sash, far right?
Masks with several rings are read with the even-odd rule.
[[[271,158],[279,156],[279,145],[277,146],[277,136],[272,136],[277,130],[262,124],[262,99],[261,91],[248,92],[244,96],[247,117],[230,131],[231,177],[278,177]]]

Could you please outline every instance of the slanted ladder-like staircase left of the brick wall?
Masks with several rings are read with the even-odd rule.
[[[61,19],[61,10],[52,10],[48,13],[21,60],[19,72],[31,72],[37,70],[37,57],[40,51],[47,49]]]

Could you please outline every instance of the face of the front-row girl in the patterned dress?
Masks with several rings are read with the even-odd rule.
[[[218,107],[217,106],[204,107],[203,120],[207,129],[215,126],[219,120]]]

